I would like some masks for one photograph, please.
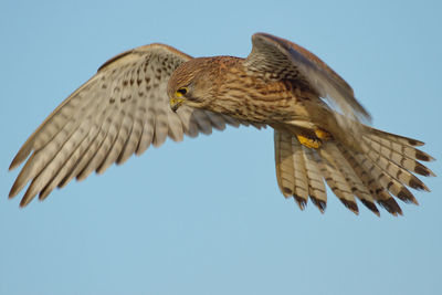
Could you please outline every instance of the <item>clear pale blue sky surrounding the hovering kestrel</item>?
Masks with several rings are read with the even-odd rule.
[[[441,3],[1,1],[0,294],[442,294],[442,178],[400,218],[330,193],[302,212],[271,129],[168,140],[43,203],[7,199],[20,146],[107,59],[152,42],[246,56],[259,31],[320,56],[441,176]]]

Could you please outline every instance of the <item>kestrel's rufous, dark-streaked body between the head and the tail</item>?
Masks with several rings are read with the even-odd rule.
[[[210,85],[203,101],[189,105],[198,103],[200,108],[293,135],[314,136],[316,129],[324,129],[356,146],[341,133],[333,110],[308,85],[292,77],[281,78],[251,70],[245,63],[245,59],[215,56],[193,59],[183,64],[192,74],[194,69],[200,69],[200,80]],[[175,75],[190,74],[178,67]]]

